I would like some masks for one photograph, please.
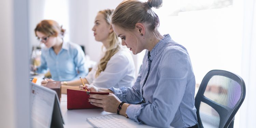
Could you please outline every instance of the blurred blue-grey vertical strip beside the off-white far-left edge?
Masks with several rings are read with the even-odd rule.
[[[14,0],[14,106],[17,127],[30,127],[30,84],[29,84],[29,0]]]

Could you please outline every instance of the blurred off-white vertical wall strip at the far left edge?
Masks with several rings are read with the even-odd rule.
[[[0,127],[1,128],[13,128],[15,123],[13,119],[14,115],[14,91],[11,91],[14,88],[13,77],[13,39],[12,39],[12,0],[1,0],[0,1]],[[6,56],[8,55],[8,56]],[[10,110],[10,111],[8,111]]]

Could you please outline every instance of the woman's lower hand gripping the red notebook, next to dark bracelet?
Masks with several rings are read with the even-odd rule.
[[[118,105],[121,101],[114,95],[98,95],[98,94],[90,94],[88,102],[91,104],[103,108],[106,112],[116,113]]]

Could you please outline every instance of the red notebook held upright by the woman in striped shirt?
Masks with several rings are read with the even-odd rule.
[[[89,94],[109,95],[109,93],[67,89],[67,109],[100,109],[100,107],[87,101]]]

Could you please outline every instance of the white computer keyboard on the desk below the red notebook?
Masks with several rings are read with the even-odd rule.
[[[128,128],[120,119],[112,115],[87,118],[87,121],[95,128]]]

